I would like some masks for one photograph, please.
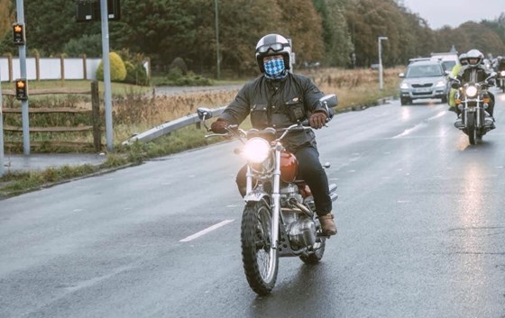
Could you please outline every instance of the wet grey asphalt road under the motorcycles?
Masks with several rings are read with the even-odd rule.
[[[4,200],[0,317],[505,317],[496,99],[475,146],[435,103],[317,131],[339,233],[317,266],[280,259],[265,297],[243,276],[234,142]]]

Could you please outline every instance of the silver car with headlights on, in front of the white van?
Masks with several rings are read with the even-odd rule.
[[[440,61],[419,60],[410,63],[406,73],[399,73],[404,79],[399,85],[399,99],[402,105],[411,104],[415,99],[440,98],[447,103],[450,85],[449,71]]]

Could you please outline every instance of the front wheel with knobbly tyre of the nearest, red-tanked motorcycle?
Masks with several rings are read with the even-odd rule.
[[[271,292],[279,269],[279,252],[272,248],[272,215],[264,201],[247,204],[242,216],[242,260],[247,282],[258,295]]]

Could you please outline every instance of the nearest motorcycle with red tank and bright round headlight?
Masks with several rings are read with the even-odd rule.
[[[319,102],[330,112],[337,99],[335,95],[325,95]],[[212,117],[212,111],[198,108],[197,115],[210,132],[206,120]],[[329,237],[323,234],[317,219],[314,197],[306,182],[297,178],[298,160],[282,145],[282,139],[290,132],[308,129],[308,121],[279,130],[268,127],[247,132],[229,125],[224,134],[206,135],[235,138],[243,143],[242,149],[234,151],[247,161],[241,226],[243,270],[249,286],[258,295],[269,294],[275,286],[280,257],[298,257],[316,264],[325,253]],[[323,167],[329,168],[330,164]],[[329,189],[335,201],[336,185],[329,185]]]

